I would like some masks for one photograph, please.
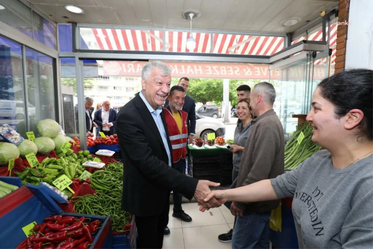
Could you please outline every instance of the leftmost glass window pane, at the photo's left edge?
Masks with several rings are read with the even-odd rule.
[[[0,36],[0,124],[26,136],[22,46]]]

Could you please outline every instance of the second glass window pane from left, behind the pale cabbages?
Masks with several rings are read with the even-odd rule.
[[[30,131],[38,134],[38,121],[56,119],[54,59],[26,47],[26,84]]]

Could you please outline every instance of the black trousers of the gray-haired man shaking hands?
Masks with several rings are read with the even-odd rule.
[[[137,249],[161,249],[163,246],[163,228],[168,223],[170,200],[164,203],[162,213],[156,216],[139,217],[135,216],[137,227]]]

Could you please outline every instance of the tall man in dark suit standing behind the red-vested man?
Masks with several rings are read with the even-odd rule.
[[[184,106],[183,106],[183,111],[188,113],[188,120],[186,124],[188,125],[188,140],[189,143],[192,143],[193,137],[195,135],[195,100],[190,97],[189,95],[186,95],[186,92],[188,91],[189,88],[189,79],[186,77],[182,77],[179,80],[178,83],[179,86],[184,88],[185,90],[185,100],[184,100]],[[164,107],[168,106],[168,100],[166,100],[166,103],[164,103]]]

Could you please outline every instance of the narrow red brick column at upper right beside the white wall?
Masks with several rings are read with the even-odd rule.
[[[338,74],[345,70],[345,59],[346,59],[346,43],[347,43],[347,30],[348,25],[348,13],[350,10],[350,0],[339,0],[339,13],[338,22],[342,23],[337,28],[337,46],[336,46],[336,58],[334,66],[334,74]]]

